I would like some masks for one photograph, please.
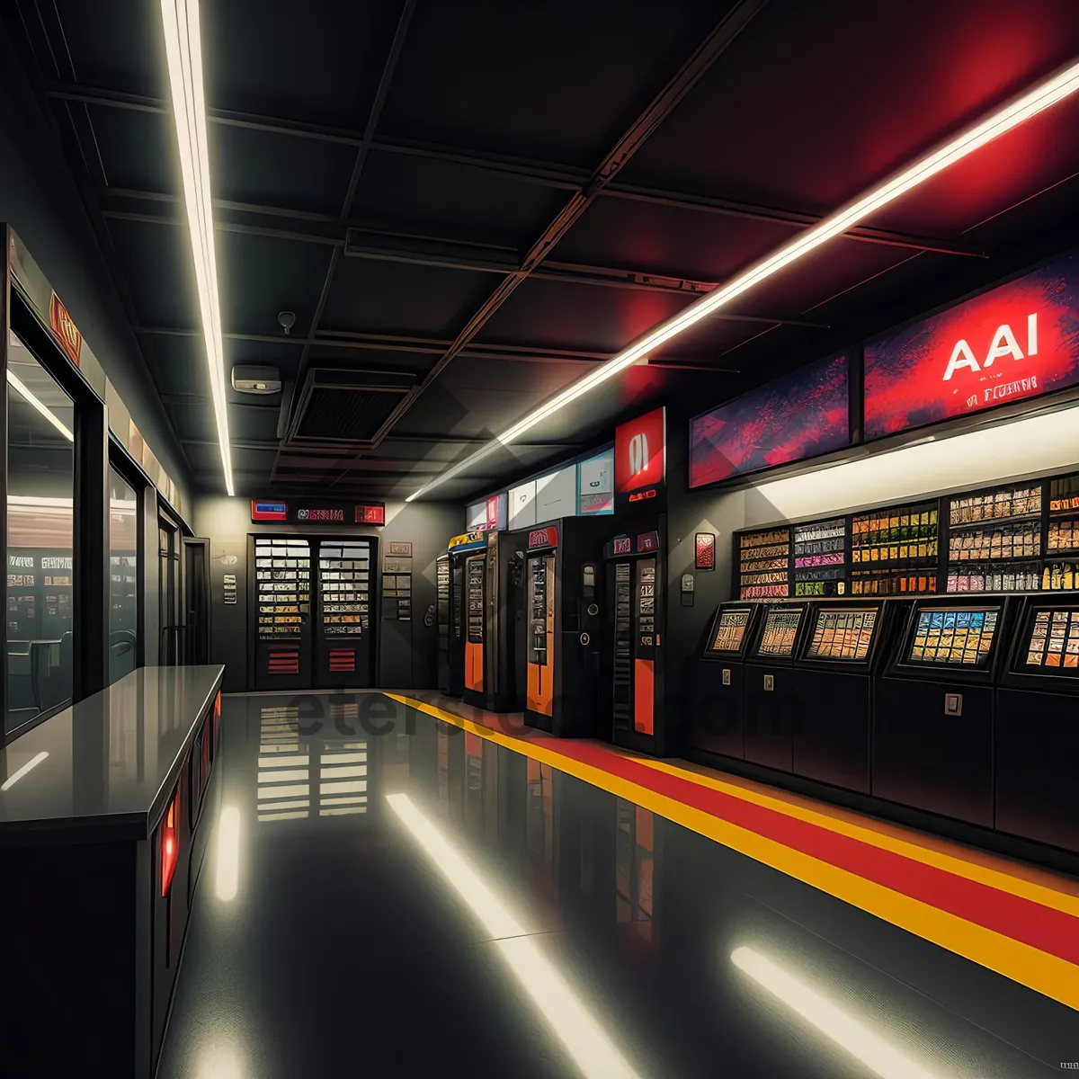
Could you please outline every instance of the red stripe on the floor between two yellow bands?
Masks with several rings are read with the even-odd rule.
[[[619,776],[684,805],[801,850],[812,858],[875,880],[893,891],[947,911],[967,921],[1079,965],[1079,918],[957,876],[852,836],[790,817],[777,809],[657,771],[602,746],[549,736],[529,739],[552,752]]]

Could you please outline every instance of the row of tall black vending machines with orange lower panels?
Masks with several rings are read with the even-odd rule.
[[[438,560],[438,687],[530,726],[663,753],[664,521],[466,533]]]

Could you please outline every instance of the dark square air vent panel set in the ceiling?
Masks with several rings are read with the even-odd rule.
[[[415,393],[411,372],[312,368],[287,441],[305,449],[374,449]]]

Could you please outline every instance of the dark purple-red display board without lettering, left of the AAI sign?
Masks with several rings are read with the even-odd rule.
[[[689,423],[689,487],[704,487],[850,441],[846,356],[792,371]]]

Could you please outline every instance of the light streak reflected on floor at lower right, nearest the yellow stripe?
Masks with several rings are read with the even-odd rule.
[[[931,1071],[760,952],[736,947],[730,960],[882,1079],[933,1079]]]

